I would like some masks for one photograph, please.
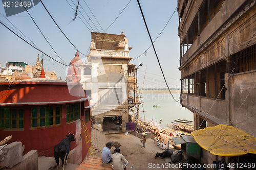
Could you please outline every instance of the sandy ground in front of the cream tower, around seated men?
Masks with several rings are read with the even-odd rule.
[[[152,139],[147,138],[145,143],[145,148],[143,148],[142,143],[139,138],[134,135],[124,133],[121,134],[111,134],[105,135],[106,141],[114,141],[121,144],[120,153],[129,161],[127,165],[127,170],[131,169],[181,169],[181,168],[172,168],[172,166],[178,166],[179,163],[173,163],[168,165],[170,158],[161,159],[160,157],[155,158],[156,153],[161,153],[164,150],[159,148]],[[114,147],[111,148],[111,152],[115,150]],[[178,150],[170,148],[174,153],[177,153]],[[182,164],[181,162],[180,164]],[[162,168],[161,168],[162,166]],[[170,168],[169,168],[170,166]],[[154,168],[155,167],[155,168]],[[158,168],[159,167],[159,168]]]

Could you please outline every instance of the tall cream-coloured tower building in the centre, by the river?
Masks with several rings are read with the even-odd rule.
[[[90,55],[88,62],[80,64],[80,79],[91,97],[95,124],[103,131],[125,131],[129,108],[136,105],[138,97],[138,68],[129,62],[132,47],[123,32],[121,35],[91,34]]]

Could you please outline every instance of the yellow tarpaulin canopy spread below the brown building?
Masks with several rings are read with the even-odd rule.
[[[191,133],[203,149],[219,156],[241,156],[256,154],[256,139],[232,126],[217,125]]]

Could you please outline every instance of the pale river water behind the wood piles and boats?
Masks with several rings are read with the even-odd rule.
[[[174,98],[179,100],[180,93],[173,93]],[[145,119],[154,122],[159,125],[160,119],[162,119],[161,127],[167,128],[167,124],[172,125],[171,121],[174,119],[188,119],[193,120],[194,114],[188,109],[182,107],[179,102],[175,102],[170,93],[142,93],[142,102],[145,113]],[[154,105],[160,107],[153,107]],[[143,111],[142,106],[139,107],[140,111]],[[140,117],[143,116],[143,112],[139,113]]]

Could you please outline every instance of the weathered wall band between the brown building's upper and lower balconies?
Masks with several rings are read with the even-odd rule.
[[[186,71],[182,70],[185,69],[187,64],[191,67],[190,62],[193,62],[192,60],[196,58],[200,58],[200,63],[202,63],[200,69],[202,69],[228,55],[243,50],[247,44],[250,46],[255,43],[256,37],[251,36],[251,31],[254,30],[256,25],[255,6],[252,8],[254,4],[255,2],[246,1],[231,3],[230,0],[226,0],[222,4],[220,11],[197,37],[197,40],[188,49],[186,55],[182,57],[181,78],[186,76]],[[242,8],[238,10],[241,5]],[[229,8],[237,10],[236,14],[230,15],[234,11],[229,11]],[[241,17],[242,15],[243,17]]]

